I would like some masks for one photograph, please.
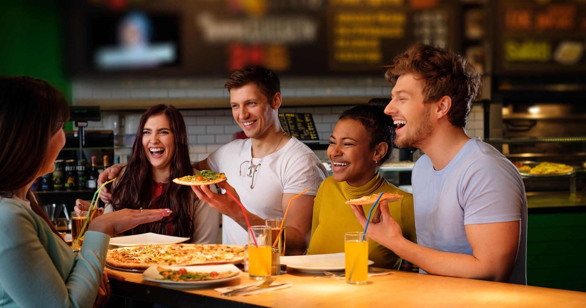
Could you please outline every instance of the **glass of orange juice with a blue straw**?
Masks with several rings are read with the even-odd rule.
[[[346,282],[356,285],[368,279],[368,234],[348,232],[344,234],[346,255]]]

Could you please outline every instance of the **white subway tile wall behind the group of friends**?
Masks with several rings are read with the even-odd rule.
[[[229,97],[229,92],[223,88],[226,79],[144,79],[119,81],[91,81],[76,80],[73,82],[73,103],[80,99],[161,99],[162,103],[169,103],[173,98],[222,98]],[[284,107],[280,112],[312,113],[318,135],[321,140],[328,140],[332,134],[340,113],[352,106],[317,106],[317,107],[287,107],[287,98],[315,98],[315,97],[344,97],[364,96],[364,102],[373,97],[389,96],[391,87],[382,77],[365,78],[283,78],[281,79],[281,93]],[[332,100],[335,101],[335,100]],[[172,103],[172,101],[171,101]],[[88,129],[112,129],[113,124],[107,123],[107,115],[120,116],[118,133],[122,139],[126,135],[135,133],[137,120],[125,127],[124,118],[135,115],[137,112],[103,112],[100,122],[90,122]],[[233,134],[240,130],[232,117],[231,110],[226,109],[197,109],[181,110],[187,125],[190,143],[190,158],[192,161],[203,160],[222,144],[233,140]],[[482,105],[473,105],[466,133],[470,137],[484,137],[484,117]],[[125,162],[126,155],[130,154],[132,144],[123,144],[126,148],[115,151]],[[418,151],[420,152],[420,151]],[[318,157],[327,160],[325,150],[316,151]],[[419,157],[421,153],[415,153]]]

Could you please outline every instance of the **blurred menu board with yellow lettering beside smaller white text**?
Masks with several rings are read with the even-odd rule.
[[[415,1],[417,2],[417,1]],[[331,0],[327,9],[331,70],[376,70],[415,41],[453,46],[454,12],[434,2],[415,10],[401,0]]]

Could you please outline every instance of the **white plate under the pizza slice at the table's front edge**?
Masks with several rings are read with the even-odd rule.
[[[217,285],[218,283],[231,281],[232,279],[239,278],[242,275],[242,272],[239,268],[237,268],[234,264],[221,264],[221,265],[194,265],[192,267],[165,267],[162,268],[170,268],[170,269],[180,269],[185,268],[188,272],[227,272],[233,271],[238,272],[238,275],[232,276],[229,278],[223,279],[216,279],[216,280],[203,280],[203,281],[168,281],[168,280],[159,280],[163,278],[163,276],[159,275],[159,271],[156,270],[158,267],[149,267],[147,270],[142,273],[142,279],[146,281],[152,281],[156,283],[162,283],[163,285],[174,286],[174,287],[200,287],[200,286],[211,286]]]

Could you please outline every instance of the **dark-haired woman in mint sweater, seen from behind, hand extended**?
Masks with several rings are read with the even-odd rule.
[[[30,186],[53,172],[65,144],[69,106],[49,82],[0,77],[0,306],[91,307],[110,236],[154,222],[171,210],[123,210],[96,217],[74,254],[49,222]]]

